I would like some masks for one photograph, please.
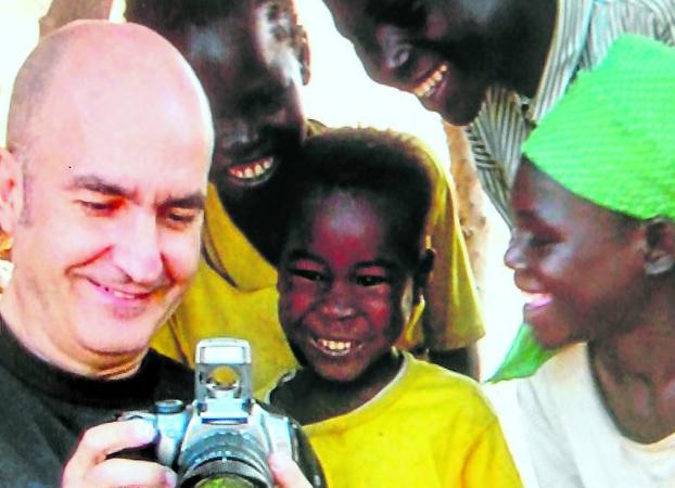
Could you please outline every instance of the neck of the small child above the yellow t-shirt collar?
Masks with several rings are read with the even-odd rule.
[[[403,355],[392,350],[348,383],[330,382],[305,368],[275,389],[271,401],[302,425],[348,413],[378,395],[400,370]]]

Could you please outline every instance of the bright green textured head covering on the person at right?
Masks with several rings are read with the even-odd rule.
[[[675,49],[620,38],[581,73],[523,153],[571,192],[640,219],[675,220]]]

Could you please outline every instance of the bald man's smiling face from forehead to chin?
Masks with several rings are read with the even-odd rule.
[[[105,116],[82,101],[44,108],[60,117],[40,126],[24,162],[12,249],[9,293],[23,321],[43,324],[47,347],[92,367],[144,351],[186,291],[211,159],[205,120],[183,127],[180,108],[157,119],[115,100]]]

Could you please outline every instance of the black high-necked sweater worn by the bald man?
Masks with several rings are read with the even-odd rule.
[[[124,380],[60,370],[26,350],[0,318],[0,487],[60,487],[84,431],[155,400],[192,401],[193,394],[192,371],[153,350]]]

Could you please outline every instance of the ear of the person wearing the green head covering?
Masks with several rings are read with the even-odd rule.
[[[645,271],[649,277],[670,272],[675,267],[675,226],[657,217],[644,223]]]

